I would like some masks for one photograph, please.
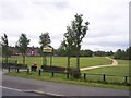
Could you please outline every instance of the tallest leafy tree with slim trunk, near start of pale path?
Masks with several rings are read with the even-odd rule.
[[[81,42],[82,39],[86,35],[86,30],[88,30],[88,22],[85,22],[85,25],[83,25],[83,19],[82,14],[76,14],[74,17],[75,20],[71,23],[71,29],[70,29],[70,36],[75,45],[76,50],[76,69],[80,71],[80,50],[81,50]]]

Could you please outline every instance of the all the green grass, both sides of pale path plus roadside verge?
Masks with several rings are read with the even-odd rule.
[[[11,58],[15,59],[15,58]],[[22,58],[17,58],[19,63],[22,61]],[[102,59],[102,60],[100,60]],[[40,64],[40,57],[27,57],[26,60],[27,63],[32,63],[33,61],[38,61]],[[94,57],[94,58],[81,58],[81,65],[87,65],[92,66],[95,64],[104,64],[99,63],[105,62],[106,58],[104,57]],[[53,65],[66,65],[67,58],[66,57],[53,57]],[[75,58],[71,59],[71,63],[73,65],[75,61]],[[108,63],[110,60],[108,60]],[[93,87],[106,87],[106,88],[115,88],[115,89],[129,89],[129,86],[126,86],[124,84],[124,77],[121,76],[106,76],[106,82],[103,83],[103,75],[122,75],[122,76],[129,76],[129,61],[128,60],[118,60],[119,65],[117,66],[108,66],[108,68],[99,68],[99,69],[94,69],[94,70],[88,70],[88,71],[82,71],[82,73],[87,74],[87,82],[84,82],[83,78],[75,79],[75,78],[67,78],[66,75],[63,74],[55,74],[55,77],[51,76],[51,73],[44,72],[41,76],[38,76],[38,72],[33,72],[27,74],[27,72],[21,72],[21,73],[15,73],[15,72],[10,72],[7,73],[8,75],[11,76],[19,76],[19,77],[25,77],[25,78],[34,78],[34,79],[39,79],[39,81],[50,81],[50,82],[59,82],[59,83],[68,83],[68,84],[75,84],[75,85],[85,85],[85,86],[93,86]],[[106,61],[107,64],[107,61]],[[99,75],[88,75],[88,74],[99,74]],[[129,82],[129,78],[128,78]]]

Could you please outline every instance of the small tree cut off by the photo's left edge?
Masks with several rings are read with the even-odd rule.
[[[7,34],[3,34],[1,37],[1,46],[2,46],[2,57],[5,57],[5,62],[8,62],[8,54],[9,54],[9,42]]]

